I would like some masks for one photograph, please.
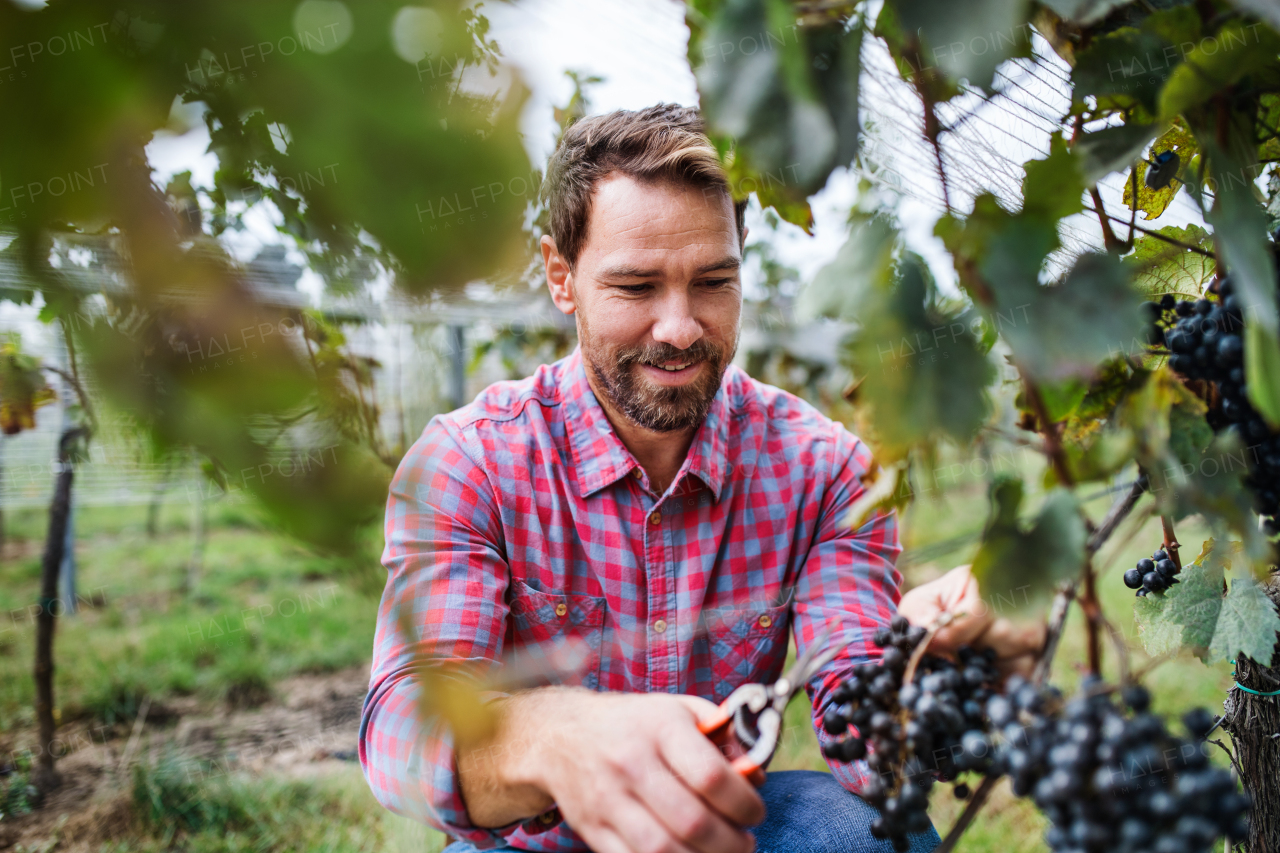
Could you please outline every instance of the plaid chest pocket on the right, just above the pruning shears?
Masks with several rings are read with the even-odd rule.
[[[782,672],[787,657],[788,605],[746,610],[713,610],[704,615],[705,654],[695,670],[710,675],[714,701],[723,701],[744,684],[768,684]],[[698,679],[701,681],[703,679]],[[699,685],[701,686],[701,685]]]

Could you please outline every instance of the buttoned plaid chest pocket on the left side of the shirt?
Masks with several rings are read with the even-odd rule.
[[[518,578],[512,579],[511,589],[516,651],[531,669],[541,669],[553,684],[599,689],[604,598],[548,593]],[[563,661],[581,660],[579,656],[586,658],[581,666],[564,671]]]

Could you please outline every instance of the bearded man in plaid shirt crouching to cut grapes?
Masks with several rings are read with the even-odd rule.
[[[460,839],[451,853],[890,849],[849,793],[865,765],[756,792],[698,730],[736,686],[778,676],[788,629],[804,651],[829,626],[840,653],[806,685],[817,724],[900,598],[893,516],[846,526],[865,444],[730,364],[745,204],[698,114],[671,105],[579,122],[547,181],[547,283],[580,347],[434,419],[399,466],[361,725],[370,785]],[[918,619],[977,610],[964,570],[920,589]],[[989,625],[952,625],[952,643]],[[590,665],[573,686],[497,698],[485,743],[422,720],[416,662],[558,644]],[[553,806],[563,822],[539,820]]]

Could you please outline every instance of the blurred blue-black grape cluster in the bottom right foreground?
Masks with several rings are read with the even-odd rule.
[[[1019,797],[1030,795],[1050,818],[1044,840],[1062,853],[1208,853],[1213,840],[1248,834],[1248,797],[1231,774],[1210,765],[1204,736],[1213,717],[1203,708],[1183,717],[1178,738],[1149,711],[1139,685],[1123,690],[1124,707],[1087,679],[1064,702],[1018,676],[987,701],[996,738],[995,772],[1007,774]]]

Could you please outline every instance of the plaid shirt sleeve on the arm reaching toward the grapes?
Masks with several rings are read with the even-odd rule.
[[[833,740],[822,727],[832,693],[859,663],[879,660],[872,638],[887,626],[901,599],[902,575],[895,567],[901,546],[893,512],[877,511],[856,529],[846,526],[850,508],[864,492],[872,467],[870,450],[838,424],[829,444],[829,484],[824,492],[809,553],[796,584],[795,639],[799,653],[831,626],[840,648],[805,686],[813,704],[818,742]],[[827,760],[837,781],[861,793],[870,770],[865,761]]]

